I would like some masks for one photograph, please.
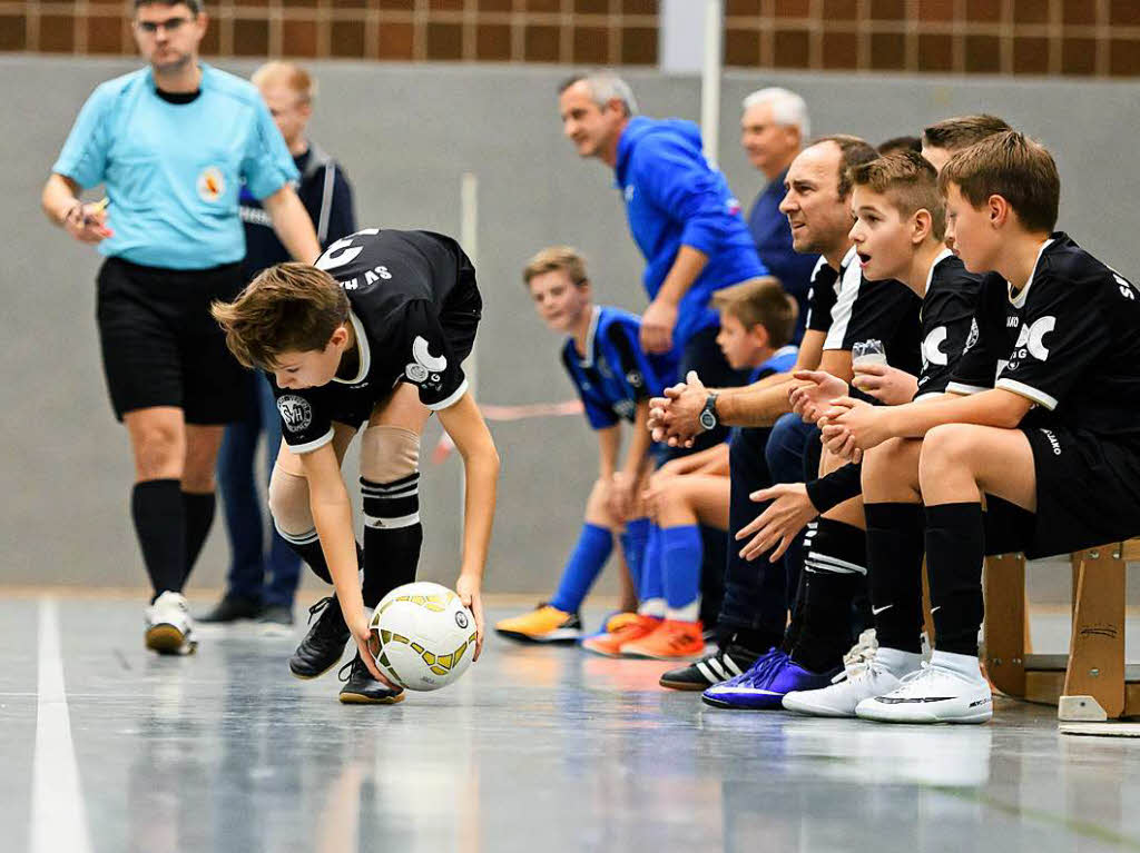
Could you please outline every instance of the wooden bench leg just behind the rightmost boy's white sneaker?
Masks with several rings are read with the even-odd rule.
[[[985,664],[990,681],[1007,696],[1025,697],[1025,557],[986,557]]]

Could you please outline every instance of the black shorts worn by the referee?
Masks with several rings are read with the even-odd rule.
[[[168,270],[108,257],[99,269],[99,343],[115,417],[155,405],[182,409],[187,424],[245,415],[249,377],[210,315],[245,285],[238,263]]]

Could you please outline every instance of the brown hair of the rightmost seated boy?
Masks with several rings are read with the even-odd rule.
[[[938,189],[953,183],[962,198],[982,208],[1001,196],[1027,231],[1050,232],[1057,224],[1061,179],[1052,155],[1040,142],[1009,130],[964,148],[943,166]]]

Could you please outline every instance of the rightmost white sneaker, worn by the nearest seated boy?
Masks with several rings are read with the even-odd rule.
[[[863,699],[855,715],[882,723],[984,723],[993,704],[976,656],[935,651],[889,694]]]

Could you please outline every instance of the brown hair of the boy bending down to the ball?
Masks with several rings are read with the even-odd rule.
[[[234,302],[215,302],[210,313],[239,362],[275,370],[282,353],[328,346],[333,333],[349,319],[349,300],[324,270],[279,263],[262,271]]]

